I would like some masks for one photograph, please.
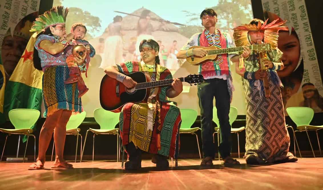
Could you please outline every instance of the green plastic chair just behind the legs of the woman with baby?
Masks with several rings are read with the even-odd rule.
[[[77,136],[77,138],[76,138],[76,150],[75,150],[75,162],[76,162],[77,152],[78,152],[78,136],[81,137],[80,156],[82,154],[82,135],[79,134],[81,129],[78,128],[78,126],[80,126],[82,124],[85,117],[86,117],[86,111],[82,111],[81,113],[71,115],[71,117],[69,118],[69,120],[68,120],[68,122],[66,124],[66,135]],[[53,142],[51,161],[53,161],[54,147],[55,147],[55,142]]]

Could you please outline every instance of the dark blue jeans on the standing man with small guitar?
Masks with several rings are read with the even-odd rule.
[[[223,79],[207,79],[199,84],[197,95],[201,109],[201,128],[203,156],[214,158],[215,148],[213,143],[213,98],[217,116],[220,122],[220,139],[219,152],[222,158],[231,156],[231,126],[229,123],[230,96],[227,81]]]

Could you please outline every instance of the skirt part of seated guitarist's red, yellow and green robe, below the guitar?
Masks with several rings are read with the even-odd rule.
[[[120,134],[122,145],[130,142],[139,149],[177,159],[180,147],[179,129],[181,115],[178,107],[169,103],[161,103],[161,133],[160,150],[158,150],[157,122],[154,122],[153,130],[148,130],[148,105],[147,103],[127,103],[120,113]],[[153,111],[156,119],[156,110]]]

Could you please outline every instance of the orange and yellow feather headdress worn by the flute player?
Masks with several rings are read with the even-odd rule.
[[[262,24],[258,22],[258,25],[255,24],[243,24],[241,26],[235,27],[233,37],[236,46],[247,46],[250,45],[248,40],[249,31],[264,31],[264,43],[269,43],[272,49],[276,49],[278,42],[278,31],[287,30],[286,26],[282,26],[286,21],[276,23],[278,19],[267,24],[268,19]]]

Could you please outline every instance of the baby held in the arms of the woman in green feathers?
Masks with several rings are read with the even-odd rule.
[[[78,82],[79,98],[89,90],[84,83],[81,72],[85,72],[85,76],[88,77],[87,71],[89,68],[90,57],[93,57],[95,55],[95,49],[93,48],[93,46],[89,44],[88,41],[83,40],[86,32],[87,32],[87,29],[85,25],[82,23],[75,23],[71,27],[71,33],[74,34],[73,44],[74,45],[83,44],[87,49],[87,53],[86,55],[84,55],[86,56],[86,59],[83,65],[78,66],[77,63],[75,62],[74,55],[72,54],[72,46],[66,49],[67,51],[66,62],[69,69],[69,78],[66,79],[65,84]]]

